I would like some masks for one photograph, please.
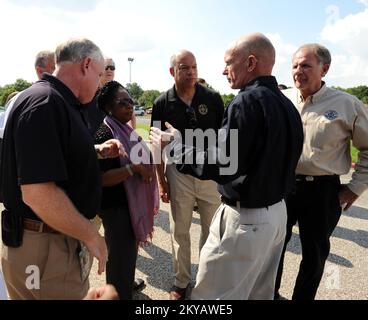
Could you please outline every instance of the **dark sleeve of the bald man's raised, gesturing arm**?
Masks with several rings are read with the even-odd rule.
[[[262,116],[256,108],[256,101],[239,97],[226,111],[224,126],[218,134],[218,145],[209,146],[202,154],[193,148],[185,148],[183,154],[196,153],[195,164],[180,164],[177,166],[182,173],[191,174],[199,179],[214,180],[226,184],[241,177],[246,177],[248,169],[259,155],[263,128]],[[211,159],[216,159],[211,164]],[[201,161],[200,164],[199,161]]]

